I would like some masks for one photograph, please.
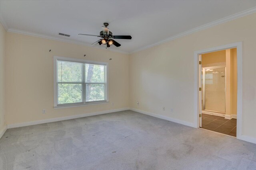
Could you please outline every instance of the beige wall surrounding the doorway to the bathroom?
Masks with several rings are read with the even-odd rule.
[[[256,137],[255,20],[256,13],[130,55],[131,107],[192,123],[194,51],[242,41],[242,135]]]

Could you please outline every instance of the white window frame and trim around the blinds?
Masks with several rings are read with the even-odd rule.
[[[76,62],[76,63],[84,63],[84,64],[98,64],[98,65],[105,65],[106,66],[106,101],[98,101],[98,102],[88,102],[88,103],[71,103],[71,104],[61,104],[58,105],[58,62],[57,61],[68,61],[68,62]],[[54,56],[53,57],[53,77],[54,77],[54,108],[69,108],[69,107],[80,107],[80,106],[88,106],[88,105],[97,105],[97,104],[107,104],[108,103],[108,63],[100,62],[100,61],[90,61],[90,60],[84,60],[84,59],[76,59],[76,58],[70,58],[70,57],[60,57],[60,56]],[[84,82],[83,84],[86,84]],[[83,92],[85,93],[85,92]],[[85,96],[83,96],[84,98]]]

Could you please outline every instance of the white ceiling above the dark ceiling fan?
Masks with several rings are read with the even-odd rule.
[[[112,45],[110,48],[131,53],[255,6],[256,0],[1,0],[0,15],[10,30],[30,31],[88,45],[99,38],[78,33],[98,35],[103,23],[108,22],[114,35],[132,36],[132,40],[116,39],[121,47]],[[59,32],[71,36],[64,37],[58,35]]]

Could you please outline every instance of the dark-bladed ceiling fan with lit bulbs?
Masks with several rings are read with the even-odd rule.
[[[116,47],[120,47],[121,44],[116,42],[114,39],[132,39],[130,35],[113,35],[111,31],[108,29],[108,23],[103,23],[104,27],[102,27],[102,31],[100,31],[100,35],[90,35],[90,34],[78,34],[78,35],[89,35],[89,36],[96,36],[101,37],[95,43],[99,43],[99,45],[106,44],[106,48],[110,47],[110,45],[115,45]],[[92,43],[93,45],[94,43]]]

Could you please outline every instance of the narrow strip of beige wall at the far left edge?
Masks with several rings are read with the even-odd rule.
[[[6,109],[5,109],[5,41],[6,31],[0,23],[0,134],[6,127]]]

